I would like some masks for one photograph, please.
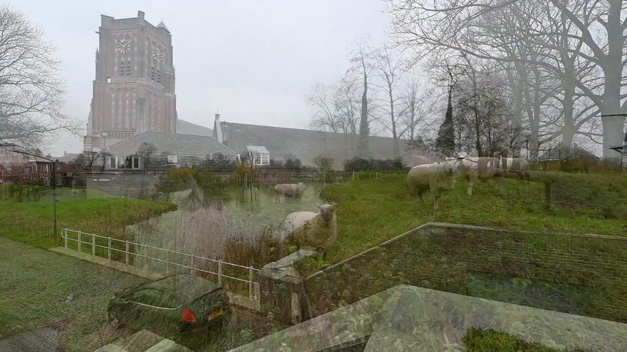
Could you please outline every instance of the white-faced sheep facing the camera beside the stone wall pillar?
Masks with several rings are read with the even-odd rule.
[[[293,212],[285,218],[285,229],[292,234],[298,247],[308,244],[322,249],[322,256],[337,241],[337,216],[335,205],[319,205],[319,211]]]

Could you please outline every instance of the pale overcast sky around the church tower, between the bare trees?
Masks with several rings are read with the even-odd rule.
[[[213,128],[219,108],[227,122],[307,128],[305,94],[334,83],[348,68],[348,47],[369,35],[385,41],[381,0],[12,1],[58,47],[68,83],[67,113],[87,122],[100,14],[132,18],[145,12],[172,33],[179,118]],[[64,136],[48,150],[80,152]]]

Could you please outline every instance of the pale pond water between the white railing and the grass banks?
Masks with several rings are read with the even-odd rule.
[[[256,241],[264,231],[278,235],[291,212],[317,212],[316,204],[324,202],[320,199],[321,189],[320,185],[310,184],[301,195],[293,197],[277,195],[270,185],[230,190],[221,197],[212,197],[199,188],[182,190],[169,197],[178,205],[176,211],[131,225],[127,230],[142,245],[223,259],[224,244],[229,237]],[[135,266],[147,269],[164,266],[164,262],[142,257],[147,254],[165,260],[164,251],[141,246],[135,251],[139,254],[135,256]],[[182,256],[177,260],[189,261]]]

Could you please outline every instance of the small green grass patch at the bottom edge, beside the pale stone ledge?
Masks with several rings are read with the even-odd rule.
[[[510,334],[492,329],[470,328],[461,340],[468,352],[562,352],[536,343],[527,343]],[[569,352],[582,352],[567,350]],[[566,351],[564,351],[566,352]]]

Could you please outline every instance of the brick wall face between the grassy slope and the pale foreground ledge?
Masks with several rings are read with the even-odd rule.
[[[305,279],[314,315],[399,284],[627,322],[627,239],[428,223]]]

